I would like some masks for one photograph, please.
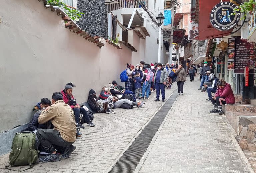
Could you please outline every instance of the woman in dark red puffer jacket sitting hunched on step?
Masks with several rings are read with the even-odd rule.
[[[219,113],[219,115],[224,114],[222,110],[222,105],[225,104],[234,104],[235,96],[233,90],[231,89],[230,84],[226,83],[224,80],[217,82],[218,89],[215,93],[215,96],[211,98],[214,109],[210,113]]]

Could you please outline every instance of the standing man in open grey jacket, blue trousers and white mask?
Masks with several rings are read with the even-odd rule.
[[[154,83],[156,86],[156,99],[154,101],[160,101],[159,96],[160,96],[160,90],[161,90],[162,102],[164,102],[164,99],[165,99],[164,86],[166,85],[167,78],[168,78],[168,71],[166,70],[166,68],[162,67],[162,64],[160,62],[158,62],[155,79],[154,79]]]

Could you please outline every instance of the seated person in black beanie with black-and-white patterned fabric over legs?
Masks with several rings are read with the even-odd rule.
[[[113,97],[107,97],[105,100],[101,100],[96,96],[96,92],[90,89],[88,96],[88,104],[95,112],[103,112],[107,114],[115,114],[112,110],[114,108]]]

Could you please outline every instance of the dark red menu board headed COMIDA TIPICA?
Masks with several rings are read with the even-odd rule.
[[[245,67],[249,67],[249,73],[253,73],[255,63],[255,48],[253,42],[241,37],[235,38],[235,71],[244,73]]]

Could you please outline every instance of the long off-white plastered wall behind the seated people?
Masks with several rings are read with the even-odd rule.
[[[127,47],[100,49],[37,0],[1,0],[0,17],[0,132],[27,123],[32,107],[68,82],[77,86],[78,103],[86,102],[91,88],[99,94],[112,80],[120,82],[132,62]]]

